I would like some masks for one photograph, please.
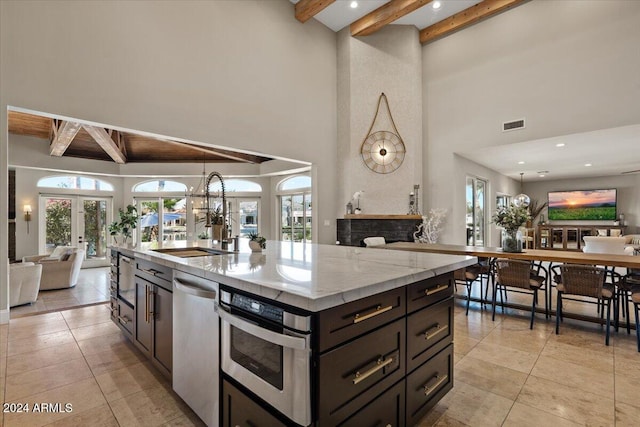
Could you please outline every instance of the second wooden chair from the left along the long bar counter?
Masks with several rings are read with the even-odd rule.
[[[493,287],[492,320],[496,318],[496,299],[498,290],[503,289],[509,292],[531,293],[531,323],[529,329],[533,329],[533,320],[536,313],[536,303],[538,302],[538,290],[544,286],[545,278],[532,276],[531,263],[514,259],[496,260],[496,283]],[[511,288],[511,289],[509,289]],[[545,297],[546,306],[546,297]]]

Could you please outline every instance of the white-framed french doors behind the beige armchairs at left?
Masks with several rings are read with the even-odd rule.
[[[109,265],[107,224],[111,222],[110,197],[41,195],[39,253],[48,254],[56,246],[76,246],[85,250],[82,267]]]

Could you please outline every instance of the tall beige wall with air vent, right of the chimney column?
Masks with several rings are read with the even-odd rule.
[[[637,1],[533,0],[425,45],[426,208],[462,191],[452,153],[640,123],[639,23]],[[523,117],[526,129],[500,131]]]

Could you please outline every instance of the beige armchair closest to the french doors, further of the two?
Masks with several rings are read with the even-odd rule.
[[[58,247],[60,248],[60,246]],[[33,255],[22,258],[22,262],[42,265],[40,290],[72,288],[78,283],[80,268],[84,260],[84,249],[64,246],[50,255]]]

